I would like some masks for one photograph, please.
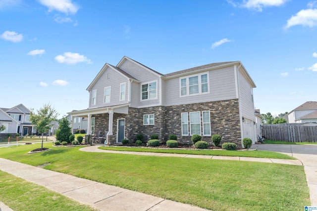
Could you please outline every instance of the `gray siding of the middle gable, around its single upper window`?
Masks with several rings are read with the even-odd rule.
[[[147,70],[145,67],[142,67],[140,65],[137,65],[129,60],[125,60],[119,68],[129,74],[130,76],[137,79],[141,84],[157,81],[157,98],[155,99],[148,99],[148,100],[141,100],[141,84],[139,85],[139,99],[138,99],[138,106],[152,106],[159,104],[159,77],[152,72],[151,70]],[[133,99],[135,99],[135,91],[133,89],[133,95],[131,96]],[[131,98],[131,101],[132,101]]]

